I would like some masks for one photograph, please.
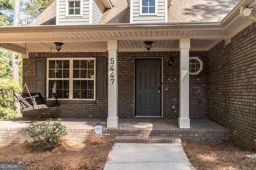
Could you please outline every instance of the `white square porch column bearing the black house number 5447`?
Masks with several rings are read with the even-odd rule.
[[[107,127],[118,127],[117,116],[117,60],[118,41],[108,41],[108,119]]]

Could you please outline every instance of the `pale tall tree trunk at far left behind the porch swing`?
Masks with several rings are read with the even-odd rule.
[[[20,0],[14,1],[14,20],[13,26],[19,26],[20,23]],[[18,55],[12,52],[12,76],[16,80],[16,84],[19,84],[19,66],[18,66]],[[14,97],[14,110],[20,113],[20,103]]]

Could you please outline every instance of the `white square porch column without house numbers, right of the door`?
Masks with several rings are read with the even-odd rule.
[[[180,116],[179,128],[189,129],[189,49],[190,39],[180,39]]]

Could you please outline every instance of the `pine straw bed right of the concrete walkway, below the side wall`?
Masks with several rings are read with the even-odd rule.
[[[198,170],[256,170],[256,159],[233,143],[182,143],[190,163]]]

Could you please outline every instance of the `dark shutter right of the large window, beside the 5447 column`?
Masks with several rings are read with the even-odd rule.
[[[96,100],[106,99],[106,57],[96,57]]]

